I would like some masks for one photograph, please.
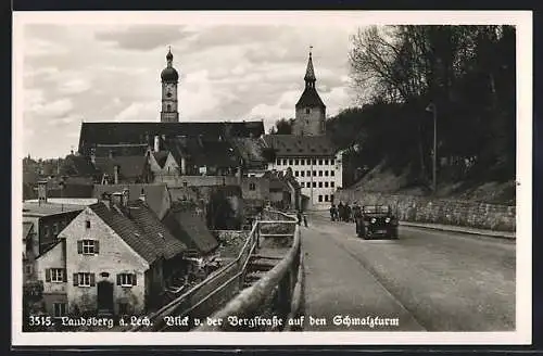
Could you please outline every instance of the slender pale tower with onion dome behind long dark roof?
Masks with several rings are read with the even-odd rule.
[[[162,81],[162,110],[161,123],[178,123],[179,113],[177,111],[177,84],[179,74],[173,66],[174,55],[172,50],[166,54],[166,67],[161,73]]]

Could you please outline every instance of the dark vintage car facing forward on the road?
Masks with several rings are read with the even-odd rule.
[[[389,205],[364,205],[355,218],[358,238],[397,239],[397,218]]]

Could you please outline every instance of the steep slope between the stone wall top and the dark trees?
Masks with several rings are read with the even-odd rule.
[[[384,167],[384,163],[377,165],[361,180],[346,190],[381,192],[424,196],[429,193],[428,188],[414,183],[411,167],[394,173]],[[515,181],[452,181],[442,180],[438,185],[434,195],[442,199],[454,199],[489,204],[515,205]]]

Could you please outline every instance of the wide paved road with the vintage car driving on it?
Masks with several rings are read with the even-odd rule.
[[[514,241],[411,227],[399,240],[362,240],[354,224],[323,214],[302,236],[306,318],[326,320],[306,320],[307,331],[515,330]],[[348,327],[337,315],[399,323]]]

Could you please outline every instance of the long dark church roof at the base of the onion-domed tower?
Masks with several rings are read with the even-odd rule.
[[[79,135],[79,153],[90,154],[97,144],[153,144],[154,136],[198,137],[212,139],[225,136],[260,137],[264,135],[263,122],[184,122],[184,123],[83,123]]]

